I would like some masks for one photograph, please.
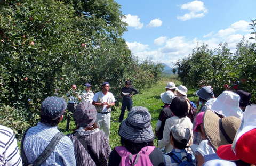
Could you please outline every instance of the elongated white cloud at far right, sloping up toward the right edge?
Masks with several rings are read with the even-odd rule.
[[[219,30],[216,35],[219,37],[224,37],[224,36],[234,34],[236,31],[239,31],[239,30],[243,32],[250,32],[249,23],[251,22],[246,22],[244,20],[237,21],[231,24],[231,26],[229,26],[227,29]]]

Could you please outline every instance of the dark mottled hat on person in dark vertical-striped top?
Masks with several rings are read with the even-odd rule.
[[[74,120],[79,127],[91,127],[96,121],[96,108],[90,102],[82,102],[76,106],[73,114]]]

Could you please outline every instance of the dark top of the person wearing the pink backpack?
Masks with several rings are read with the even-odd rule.
[[[153,166],[164,166],[164,154],[159,148],[155,148],[150,154],[149,159]],[[108,160],[108,166],[119,166],[121,162],[121,156],[114,149],[110,155]]]

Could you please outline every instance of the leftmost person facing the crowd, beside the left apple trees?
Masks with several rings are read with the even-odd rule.
[[[69,97],[68,97],[68,107],[67,107],[67,110],[69,112],[72,112],[74,113],[75,110],[76,110],[76,106],[78,104],[78,100],[76,97],[78,97],[79,100],[81,100],[82,98],[79,96],[79,94],[75,91],[77,88],[77,86],[75,84],[72,84],[71,85],[71,89],[70,92],[67,94]],[[71,116],[68,114],[67,115],[67,126],[66,126],[66,131],[69,130],[69,123],[70,123],[70,119],[71,119]]]

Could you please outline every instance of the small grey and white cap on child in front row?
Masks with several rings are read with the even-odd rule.
[[[179,143],[187,144],[191,137],[189,128],[185,127],[183,124],[176,124],[170,128],[172,136]]]

